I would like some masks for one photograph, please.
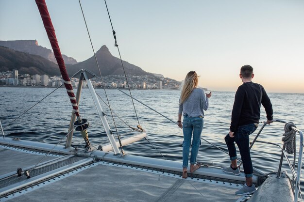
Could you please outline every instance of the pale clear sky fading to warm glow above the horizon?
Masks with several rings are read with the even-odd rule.
[[[93,56],[78,0],[46,0],[61,52]],[[104,0],[81,0],[92,44],[119,57]],[[211,91],[242,84],[240,67],[267,92],[304,93],[303,0],[107,0],[121,58]],[[51,49],[35,0],[0,0],[0,40],[37,40]]]

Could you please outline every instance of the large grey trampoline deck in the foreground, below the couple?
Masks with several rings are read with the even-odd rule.
[[[229,183],[228,187],[208,183],[100,162],[0,202],[235,202],[240,198]]]

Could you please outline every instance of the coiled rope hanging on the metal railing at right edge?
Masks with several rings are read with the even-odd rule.
[[[296,131],[292,129],[296,127],[292,122],[285,124],[282,141],[285,144],[285,150],[287,154],[293,154],[296,152]]]

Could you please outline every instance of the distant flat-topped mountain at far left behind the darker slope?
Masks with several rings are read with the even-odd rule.
[[[57,64],[54,53],[51,49],[38,45],[36,40],[16,40],[16,41],[0,41],[0,46],[9,47],[11,49],[26,52],[33,55],[39,55],[51,62]],[[62,55],[66,64],[76,64],[77,61],[74,58]]]

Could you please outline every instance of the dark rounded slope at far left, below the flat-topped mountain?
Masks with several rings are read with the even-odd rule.
[[[0,72],[17,69],[19,74],[60,75],[58,65],[41,56],[0,46]]]

